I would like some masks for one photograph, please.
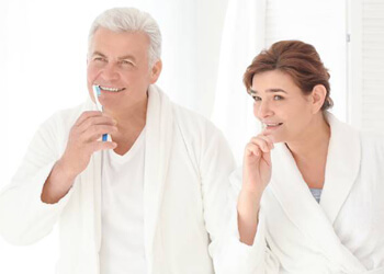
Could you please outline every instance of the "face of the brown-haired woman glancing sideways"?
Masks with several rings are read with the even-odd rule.
[[[314,117],[312,96],[304,95],[289,75],[280,70],[255,75],[251,95],[253,114],[274,142],[305,138]]]

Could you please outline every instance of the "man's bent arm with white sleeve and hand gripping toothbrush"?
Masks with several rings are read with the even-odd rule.
[[[68,129],[60,116],[39,128],[12,183],[0,193],[0,233],[5,240],[29,244],[52,231],[70,197],[75,178],[87,168],[91,155],[115,147],[98,141],[102,134],[116,130],[112,124],[113,119],[100,112],[82,113],[70,129],[61,157],[58,147],[65,147],[66,136],[58,133]]]

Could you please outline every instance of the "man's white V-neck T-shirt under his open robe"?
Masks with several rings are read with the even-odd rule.
[[[101,274],[146,273],[144,157],[145,129],[124,156],[103,151]]]

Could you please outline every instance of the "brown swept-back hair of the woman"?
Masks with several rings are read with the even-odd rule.
[[[252,60],[244,75],[244,84],[249,93],[255,75],[271,70],[280,70],[289,76],[304,94],[309,94],[316,84],[323,84],[327,95],[321,111],[334,105],[329,96],[328,69],[316,52],[315,47],[301,41],[280,41],[269,49],[262,50]]]

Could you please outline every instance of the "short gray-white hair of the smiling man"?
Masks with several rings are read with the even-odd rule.
[[[149,68],[161,56],[161,33],[155,19],[147,12],[135,8],[114,8],[104,11],[95,18],[88,35],[88,48],[90,49],[94,33],[99,27],[105,27],[112,32],[142,32],[149,37],[148,59]]]

